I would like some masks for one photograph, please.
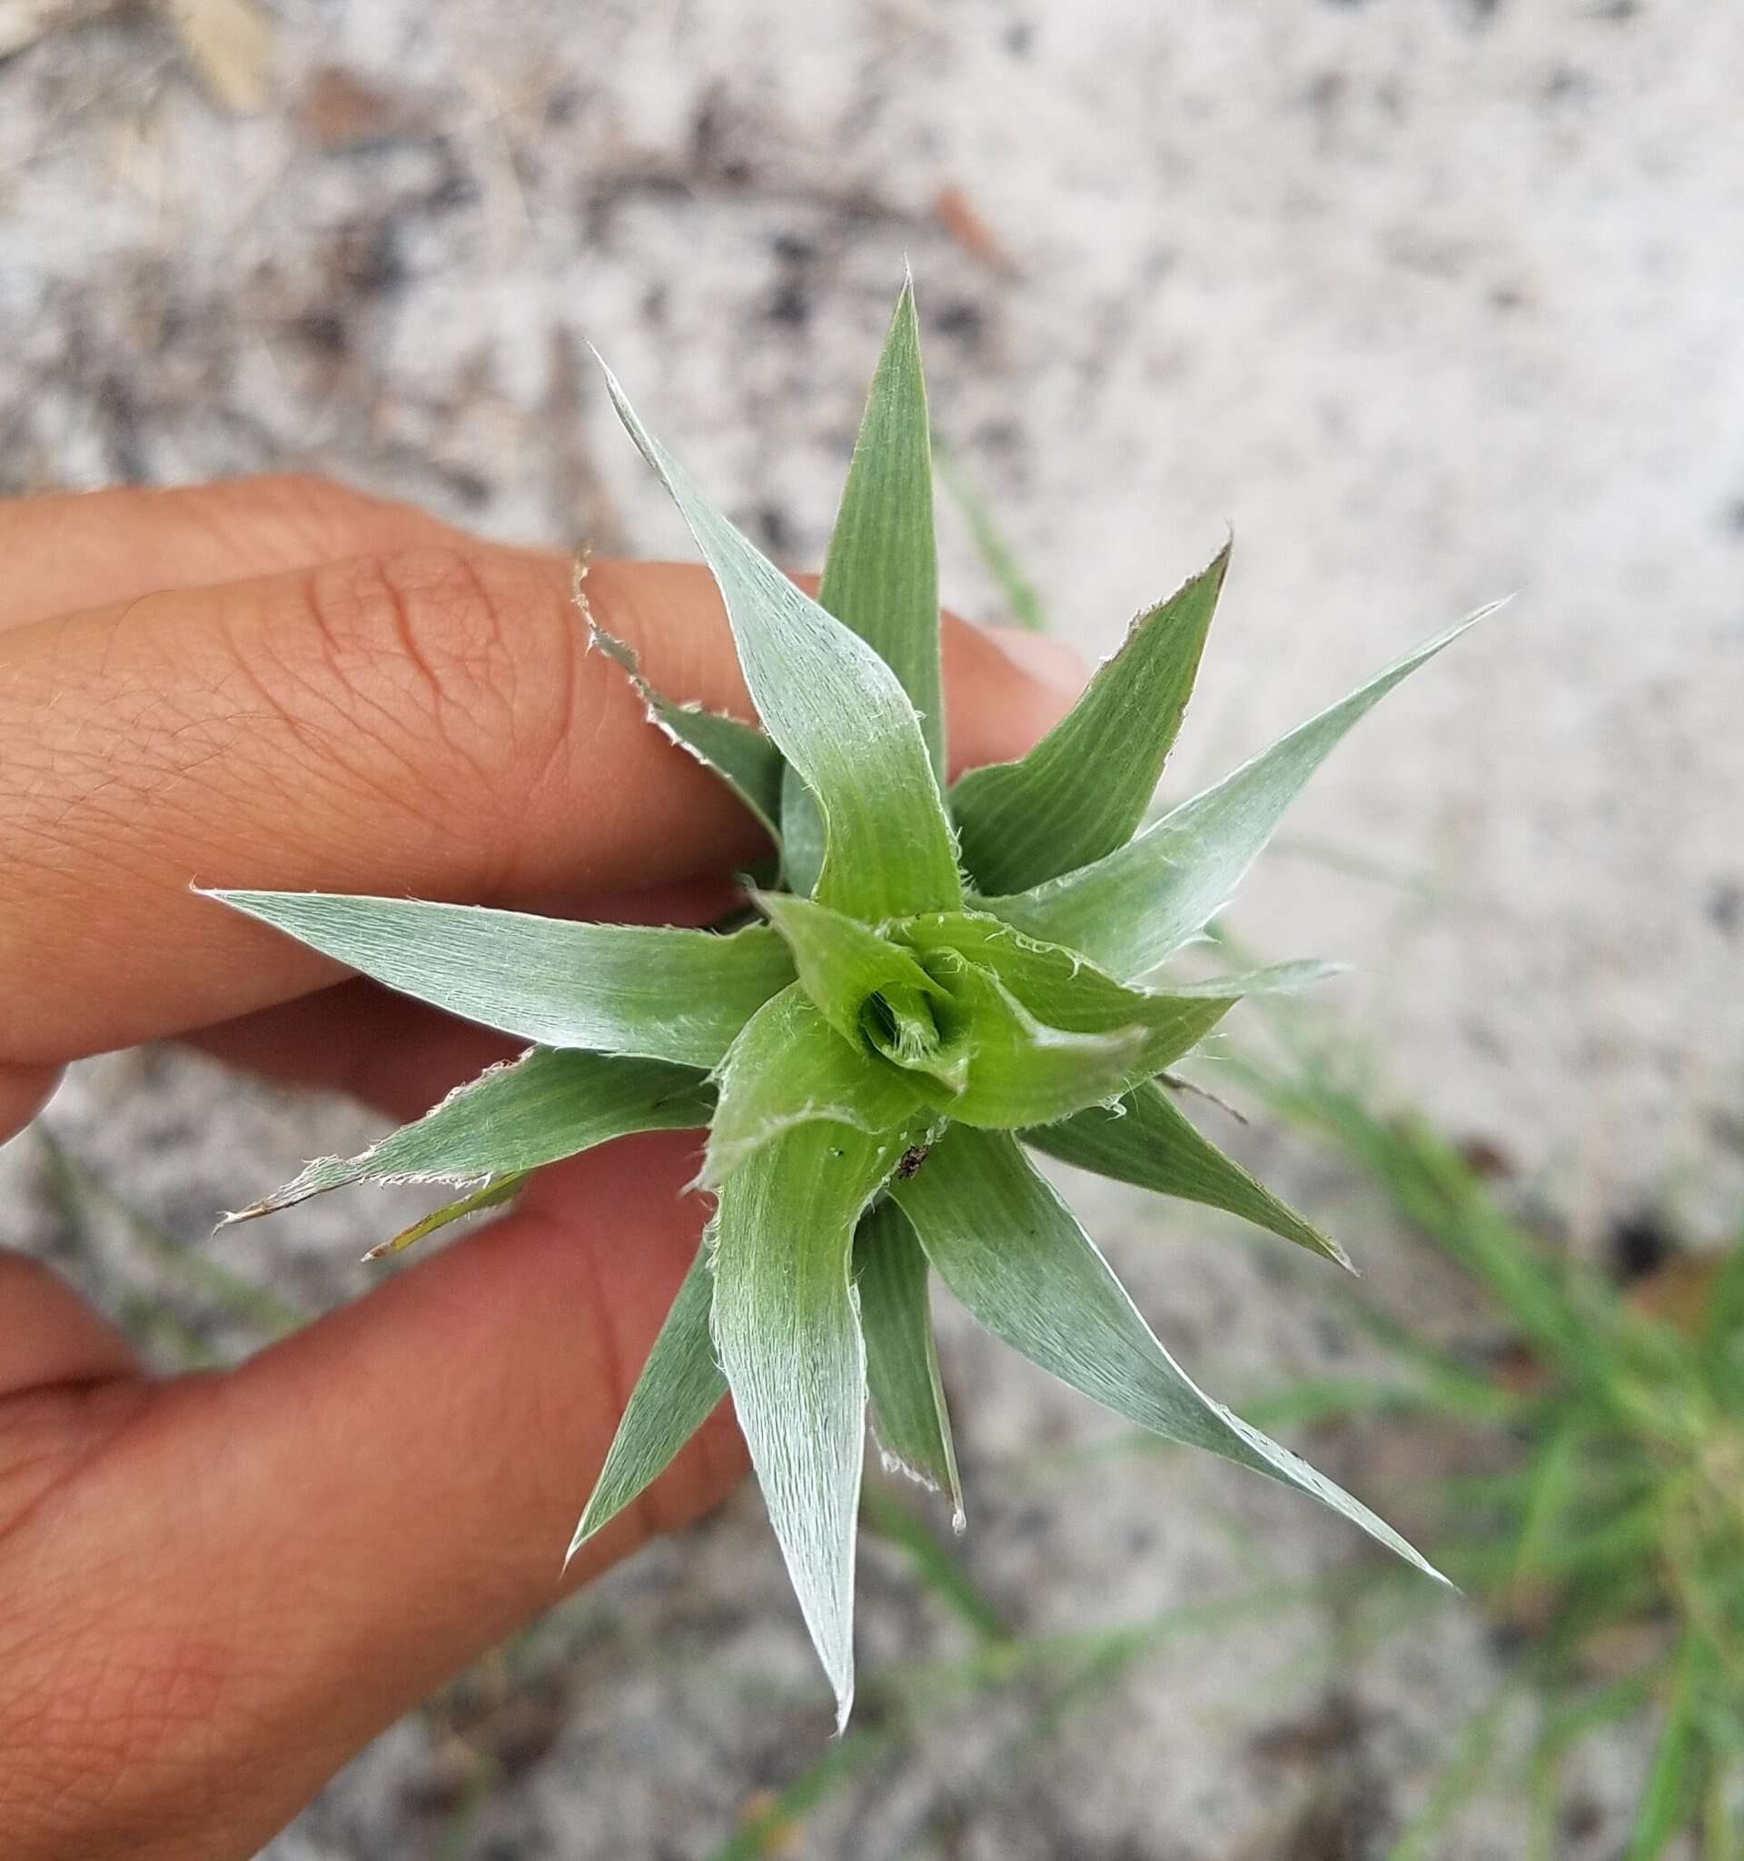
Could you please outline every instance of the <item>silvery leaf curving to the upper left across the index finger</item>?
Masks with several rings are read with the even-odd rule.
[[[606,383],[720,582],[762,728],[822,810],[820,903],[868,923],[961,903],[945,802],[896,674],[727,523],[641,424],[610,368]]]

